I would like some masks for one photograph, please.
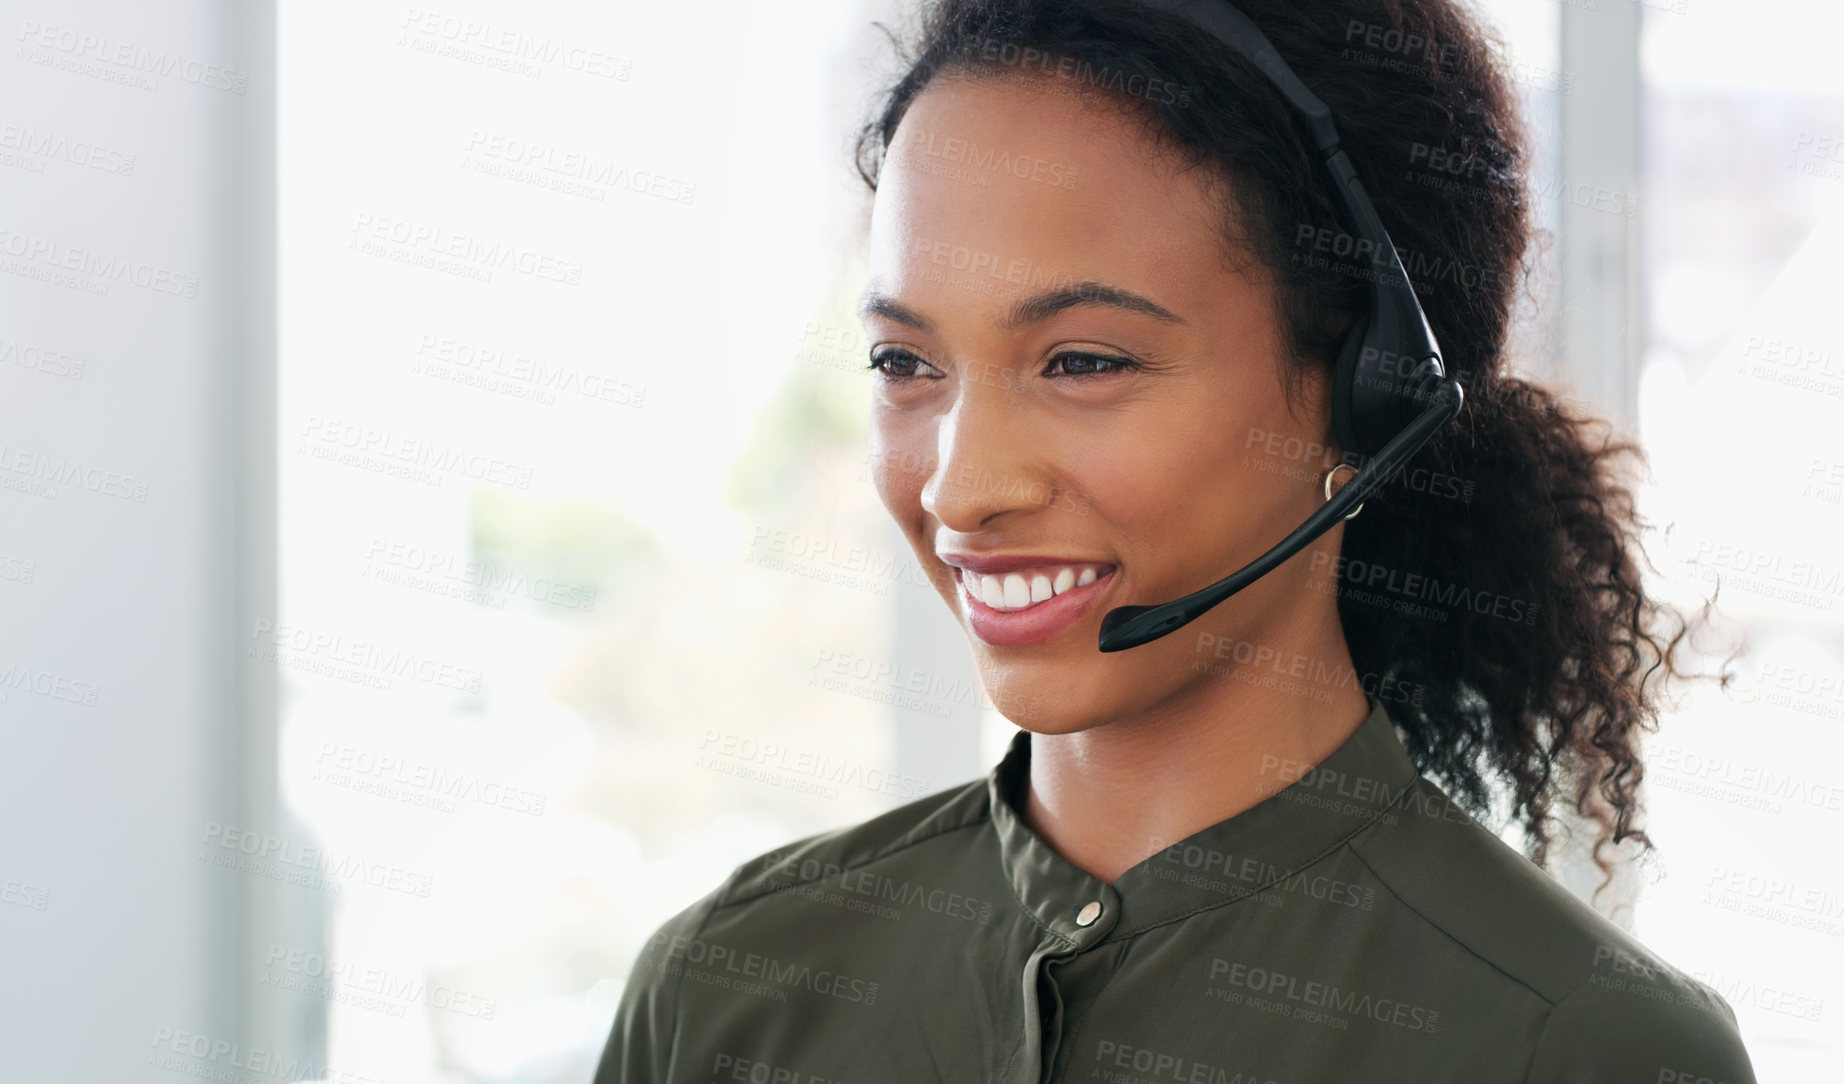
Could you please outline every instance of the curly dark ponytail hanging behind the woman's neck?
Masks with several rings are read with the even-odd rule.
[[[1643,590],[1645,455],[1518,378],[1472,395],[1449,431],[1436,455],[1470,498],[1400,476],[1346,524],[1339,618],[1352,658],[1416,689],[1390,717],[1455,802],[1495,820],[1501,780],[1503,815],[1547,866],[1560,798],[1599,824],[1591,855],[1610,876],[1604,848],[1652,850],[1639,734],[1656,728],[1658,682],[1685,677],[1689,621]]]

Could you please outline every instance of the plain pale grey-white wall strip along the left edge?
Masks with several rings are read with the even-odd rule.
[[[210,822],[273,831],[240,643],[273,612],[267,11],[0,4],[9,1080],[173,1080],[157,1029],[266,1034],[267,885],[201,854]]]

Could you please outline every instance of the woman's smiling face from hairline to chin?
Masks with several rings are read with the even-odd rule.
[[[1199,170],[1055,88],[937,77],[892,140],[863,306],[872,477],[1027,730],[1208,702],[1224,660],[1337,629],[1307,583],[1331,583],[1342,527],[1162,640],[1097,649],[1110,608],[1176,599],[1283,538],[1337,459],[1324,383],[1294,418],[1274,297],[1219,238]],[[1011,597],[990,573],[994,608],[961,566],[1005,557],[1029,568]]]

